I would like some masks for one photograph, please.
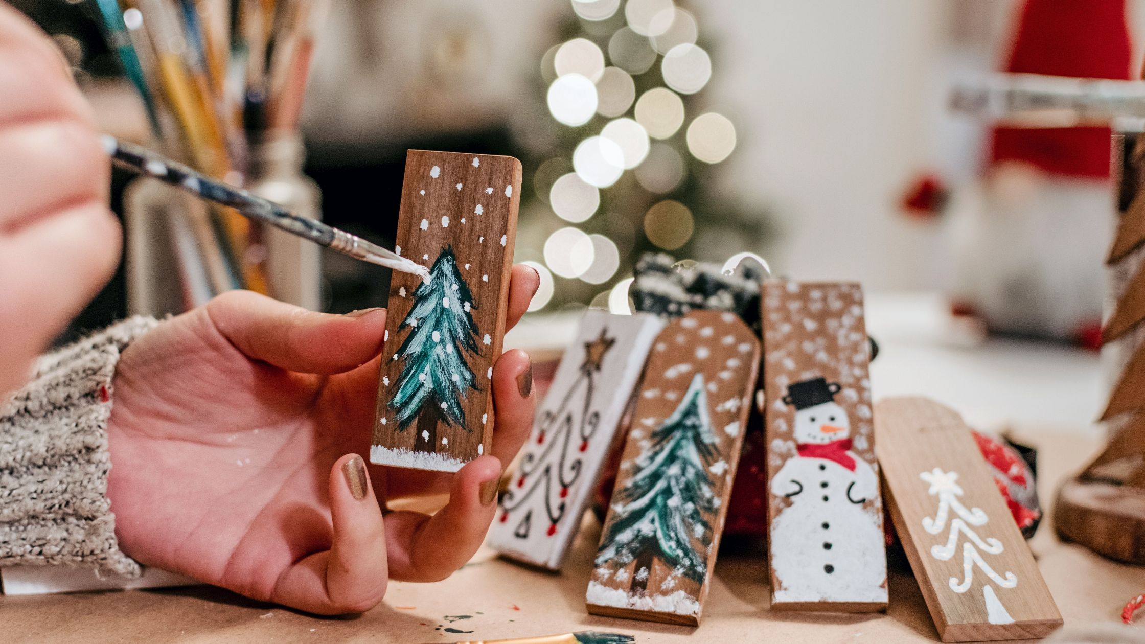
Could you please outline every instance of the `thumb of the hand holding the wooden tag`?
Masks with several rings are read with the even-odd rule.
[[[248,358],[291,371],[340,374],[381,351],[386,309],[315,313],[251,291],[228,291],[206,304],[214,327]]]

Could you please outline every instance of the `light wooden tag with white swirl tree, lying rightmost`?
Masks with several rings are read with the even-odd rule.
[[[925,398],[875,406],[891,520],[942,642],[1029,639],[1061,615],[971,430]]]

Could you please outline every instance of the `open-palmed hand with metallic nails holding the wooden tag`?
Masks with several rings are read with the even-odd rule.
[[[538,283],[513,268],[510,327]],[[129,345],[108,425],[124,552],[324,614],[373,607],[389,579],[436,581],[464,565],[532,423],[529,358],[510,351],[493,367],[490,454],[456,474],[366,465],[356,498],[385,327],[384,309],[329,315],[235,291]],[[382,512],[387,500],[447,492],[433,517]]]

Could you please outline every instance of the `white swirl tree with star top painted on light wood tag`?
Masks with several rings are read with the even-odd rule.
[[[929,472],[922,472],[918,478],[930,485],[927,494],[938,497],[938,510],[933,517],[923,518],[923,529],[930,534],[949,531],[946,543],[937,543],[931,547],[931,556],[940,561],[948,561],[956,552],[962,551],[962,579],[951,576],[949,579],[950,590],[958,594],[970,590],[977,567],[987,578],[982,580],[982,600],[986,603],[987,621],[990,623],[1013,623],[1013,618],[1002,605],[989,582],[993,581],[1000,588],[1009,589],[1018,586],[1018,578],[1012,572],[1000,575],[986,563],[982,558],[984,553],[1001,555],[1004,548],[997,539],[982,539],[974,531],[974,528],[985,526],[989,521],[989,517],[980,508],[968,509],[958,500],[963,495],[963,489],[958,485],[957,472],[943,472],[940,468],[934,468]],[[962,548],[958,548],[960,535],[964,537],[961,541]]]

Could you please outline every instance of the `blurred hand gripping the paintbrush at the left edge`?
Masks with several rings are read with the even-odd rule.
[[[63,56],[0,2],[0,395],[111,277],[110,176]]]

